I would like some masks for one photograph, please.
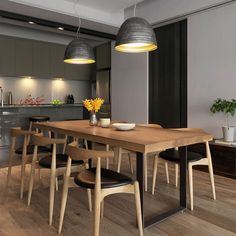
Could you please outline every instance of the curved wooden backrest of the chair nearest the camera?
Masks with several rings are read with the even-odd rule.
[[[79,148],[75,142],[68,145],[67,153],[72,160],[83,161],[88,159],[110,158],[114,156],[112,151],[97,151]]]

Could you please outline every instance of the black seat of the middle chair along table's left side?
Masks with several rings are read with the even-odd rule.
[[[56,168],[66,167],[68,155],[66,154],[57,154]],[[39,165],[44,168],[51,168],[52,156],[46,156],[40,159]],[[72,165],[81,165],[84,164],[83,161],[72,161]]]

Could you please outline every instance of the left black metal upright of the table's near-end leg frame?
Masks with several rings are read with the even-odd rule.
[[[139,182],[139,191],[140,191],[140,203],[141,203],[141,211],[142,211],[142,220],[144,225],[144,209],[143,209],[143,201],[144,201],[144,156],[143,153],[137,152],[136,157],[136,178]]]

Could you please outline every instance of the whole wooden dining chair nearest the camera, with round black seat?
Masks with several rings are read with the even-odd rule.
[[[133,181],[131,178],[119,174],[115,171],[101,168],[101,160],[104,158],[113,158],[114,153],[111,151],[97,151],[97,150],[86,150],[78,148],[76,144],[72,143],[68,145],[68,163],[66,174],[64,176],[64,186],[62,193],[62,203],[60,212],[60,221],[58,232],[61,233],[62,223],[65,214],[65,207],[68,196],[68,187],[71,183],[71,161],[72,160],[83,160],[88,159],[96,160],[96,168],[90,168],[81,171],[73,180],[73,182],[80,187],[86,189],[94,189],[94,236],[99,236],[100,228],[100,216],[101,207],[103,208],[104,198],[108,195],[115,193],[130,193],[135,195],[137,221],[139,228],[139,235],[143,235],[142,219],[141,219],[141,205],[140,205],[140,194],[139,184],[137,181]]]

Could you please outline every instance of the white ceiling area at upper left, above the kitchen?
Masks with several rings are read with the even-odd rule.
[[[124,9],[143,0],[1,0],[17,4],[18,8],[31,7],[50,12],[119,27],[124,21]],[[60,18],[60,17],[59,17]],[[63,19],[63,18],[62,18]],[[65,22],[67,23],[67,22]],[[78,21],[75,21],[78,24]]]

